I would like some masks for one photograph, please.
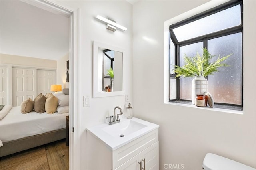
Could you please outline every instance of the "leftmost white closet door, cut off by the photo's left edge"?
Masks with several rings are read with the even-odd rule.
[[[0,105],[8,104],[8,67],[0,67]]]

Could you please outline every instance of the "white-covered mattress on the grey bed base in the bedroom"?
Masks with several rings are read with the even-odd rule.
[[[0,139],[8,142],[36,134],[42,134],[66,127],[66,116],[69,113],[54,114],[30,113],[22,114],[20,106],[12,107],[9,113],[0,121]]]

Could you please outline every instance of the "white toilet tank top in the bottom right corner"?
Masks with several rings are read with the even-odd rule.
[[[212,153],[206,154],[202,168],[204,170],[256,170],[250,166]]]

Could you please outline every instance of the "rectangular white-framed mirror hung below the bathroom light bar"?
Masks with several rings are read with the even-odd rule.
[[[124,95],[124,49],[93,42],[93,97]]]

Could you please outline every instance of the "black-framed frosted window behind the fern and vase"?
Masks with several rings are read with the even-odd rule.
[[[242,1],[230,1],[169,26],[169,102],[191,101],[193,78],[175,79],[173,65],[183,66],[184,54],[202,55],[207,48],[212,55],[233,53],[224,61],[230,67],[206,77],[216,106],[242,110],[242,25]]]

